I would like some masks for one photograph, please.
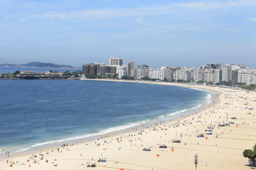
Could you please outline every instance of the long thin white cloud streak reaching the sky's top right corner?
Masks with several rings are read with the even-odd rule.
[[[63,13],[47,13],[46,18],[121,18],[131,16],[152,16],[167,13],[187,13],[199,10],[219,10],[229,8],[245,8],[256,6],[255,0],[237,0],[229,2],[189,2],[171,3],[139,8],[105,8],[100,10],[70,11]]]

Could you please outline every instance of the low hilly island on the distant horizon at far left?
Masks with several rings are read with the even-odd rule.
[[[70,65],[58,65],[44,62],[30,62],[27,64],[0,64],[0,67],[33,67],[33,68],[52,68],[52,69],[75,69]]]

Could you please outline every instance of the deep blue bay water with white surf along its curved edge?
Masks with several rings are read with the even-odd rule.
[[[0,79],[0,154],[131,128],[210,103],[210,92],[113,81]]]

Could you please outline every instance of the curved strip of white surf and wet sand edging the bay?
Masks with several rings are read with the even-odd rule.
[[[105,80],[105,79],[87,79],[89,81],[116,81],[116,80]],[[167,86],[180,86],[183,88],[189,88],[194,89],[198,91],[208,91],[210,92],[210,102],[208,103],[201,103],[196,107],[193,108],[186,108],[180,111],[176,111],[174,113],[168,113],[166,115],[161,115],[155,118],[150,118],[147,120],[142,120],[139,122],[133,122],[128,123],[126,125],[119,125],[117,127],[107,128],[106,130],[101,130],[100,132],[94,133],[94,134],[86,134],[86,135],[80,135],[77,137],[70,137],[70,138],[63,138],[60,140],[55,141],[48,141],[48,142],[42,142],[37,143],[35,145],[32,145],[30,147],[21,148],[16,152],[12,153],[12,156],[19,157],[23,154],[32,154],[33,152],[40,152],[41,150],[52,150],[56,147],[59,147],[60,145],[64,143],[86,143],[86,142],[92,142],[99,138],[106,138],[106,137],[114,137],[116,135],[123,135],[127,134],[129,132],[136,132],[139,130],[144,130],[147,128],[152,128],[156,125],[164,125],[167,123],[175,122],[182,120],[183,118],[193,116],[196,113],[203,111],[204,109],[213,106],[216,102],[216,98],[218,98],[218,92],[217,91],[210,91],[206,89],[198,89],[193,88],[191,86],[183,86],[184,84],[170,84],[170,83],[161,83],[161,82],[149,82],[149,81],[120,81],[117,80],[116,82],[127,82],[127,83],[144,83],[144,84],[157,84],[157,85],[167,85]],[[213,94],[214,92],[214,94]],[[4,149],[3,151],[5,151]],[[0,158],[3,158],[4,154],[0,155]]]

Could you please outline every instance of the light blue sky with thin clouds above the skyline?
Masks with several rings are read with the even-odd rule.
[[[0,0],[0,63],[256,68],[256,0]]]

